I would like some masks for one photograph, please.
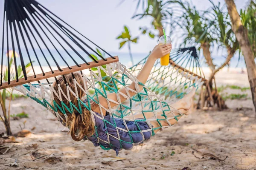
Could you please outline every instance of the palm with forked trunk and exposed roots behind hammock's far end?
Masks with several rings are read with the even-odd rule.
[[[212,3],[211,0],[210,2]],[[183,34],[183,44],[199,44],[200,48],[203,50],[207,65],[209,65],[209,68],[212,71],[206,85],[208,94],[204,93],[205,97],[202,99],[202,106],[205,105],[205,101],[211,98],[214,104],[216,103],[218,105],[218,108],[226,108],[224,100],[218,94],[216,83],[215,91],[212,91],[212,80],[214,79],[215,74],[230,62],[236,51],[239,49],[239,43],[231,29],[229,15],[223,12],[223,8],[220,8],[220,4],[216,6],[212,3],[212,8],[210,10],[200,13],[195,6],[191,7],[189,3],[183,3],[182,1],[172,1],[172,3],[180,4],[184,11],[179,19],[180,27],[186,32]],[[213,63],[210,53],[210,47],[213,45],[213,42],[216,42],[219,47],[227,49],[227,57],[225,61],[217,68]]]

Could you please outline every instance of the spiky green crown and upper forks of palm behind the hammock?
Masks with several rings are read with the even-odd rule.
[[[209,1],[212,3],[212,0]],[[190,46],[193,43],[199,43],[199,49],[203,47],[204,54],[206,54],[204,57],[213,71],[215,65],[212,64],[212,57],[208,54],[210,46],[216,44],[218,48],[224,47],[229,55],[219,69],[227,65],[240,46],[232,31],[230,17],[224,11],[225,6],[220,7],[220,3],[218,5],[212,3],[211,8],[199,11],[186,1],[174,0],[172,3],[179,4],[183,11],[177,21],[180,28],[185,31],[185,34],[181,36],[184,39],[183,45]],[[219,69],[216,70],[219,71]]]

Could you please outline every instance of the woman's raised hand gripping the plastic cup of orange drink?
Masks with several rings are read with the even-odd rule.
[[[166,54],[170,54],[172,50],[172,44],[163,44],[163,45],[156,45],[154,49],[152,50],[151,54],[149,55],[149,58],[158,59]]]

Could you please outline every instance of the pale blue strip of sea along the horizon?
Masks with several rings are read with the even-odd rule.
[[[1,48],[0,48],[0,51],[2,52]],[[70,56],[64,50],[59,50],[59,52],[62,55],[62,57],[64,58],[64,60],[68,63],[69,66],[76,65],[75,62],[73,62],[73,59],[71,59]],[[79,52],[79,54],[81,54],[82,57],[85,58],[85,60],[87,62],[92,61],[87,56],[87,54],[85,54],[83,51],[78,51],[78,52]],[[4,65],[7,63],[7,57],[5,57],[6,53],[7,53],[7,51],[4,51],[4,61],[3,61]],[[38,54],[38,59],[40,60],[41,66],[48,66],[46,59],[48,60],[48,62],[49,62],[49,64],[51,66],[56,66],[54,60],[52,59],[51,55],[49,54],[49,52],[46,49],[43,50],[43,53],[45,55],[43,55],[39,49],[36,49],[36,53]],[[70,55],[79,64],[84,63],[84,61],[82,59],[80,59],[79,56],[75,52],[68,51],[68,53],[70,53]],[[132,62],[131,62],[131,58],[130,58],[129,53],[123,53],[123,52],[119,52],[119,51],[108,52],[108,53],[111,54],[112,56],[119,56],[119,61],[122,64],[126,65],[127,67],[131,67],[132,66]],[[27,57],[25,49],[22,49],[22,54],[23,54],[24,62],[28,63],[29,62],[29,58]],[[66,66],[67,65],[64,62],[64,60],[61,59],[61,57],[60,57],[60,55],[58,54],[57,51],[51,50],[51,54],[55,58],[55,60],[56,60],[56,62],[58,63],[59,66]],[[132,56],[133,56],[134,64],[136,64],[136,63],[140,62],[143,58],[148,56],[148,54],[147,53],[132,53]],[[30,57],[31,57],[31,60],[34,61],[33,65],[35,65],[35,66],[39,65],[39,63],[37,61],[37,58],[35,57],[35,54],[33,53],[32,50],[30,50]],[[108,57],[108,55],[105,55],[105,57]],[[205,63],[204,56],[200,56],[199,58],[200,58],[200,62],[201,62],[201,67],[207,67],[207,64]],[[213,56],[213,62],[217,66],[221,65],[221,63],[223,63],[224,61],[225,61],[224,57]],[[20,63],[20,58],[18,58],[18,62],[17,63]],[[239,56],[235,55],[231,59],[229,67],[230,68],[245,68],[246,66],[245,66],[244,58],[240,57],[240,60],[239,60]]]

